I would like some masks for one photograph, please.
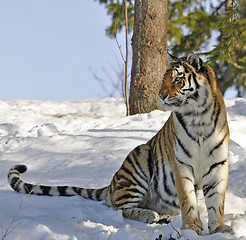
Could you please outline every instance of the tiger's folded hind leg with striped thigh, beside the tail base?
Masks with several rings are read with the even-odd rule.
[[[125,218],[145,223],[154,223],[165,218],[145,208],[153,174],[152,161],[150,146],[140,145],[129,153],[113,177],[107,201],[116,210],[122,210]]]

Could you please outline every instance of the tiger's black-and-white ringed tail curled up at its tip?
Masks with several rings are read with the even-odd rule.
[[[81,196],[94,201],[106,200],[108,187],[101,189],[85,189],[71,186],[43,186],[25,183],[20,179],[20,174],[26,172],[25,165],[15,165],[9,170],[8,181],[10,186],[19,193],[46,195],[46,196]]]

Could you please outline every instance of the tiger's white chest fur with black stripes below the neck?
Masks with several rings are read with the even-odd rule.
[[[225,119],[219,113],[215,114],[212,107],[202,115],[176,113],[174,119],[176,159],[180,164],[185,164],[184,175],[193,178],[199,188],[211,166],[228,157],[228,146],[223,141],[225,133],[222,131]]]

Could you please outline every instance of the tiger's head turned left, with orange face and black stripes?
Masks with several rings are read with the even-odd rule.
[[[211,90],[217,88],[213,70],[203,66],[202,59],[194,53],[182,58],[169,57],[159,93],[165,110],[183,111],[202,105],[205,98],[211,97]]]

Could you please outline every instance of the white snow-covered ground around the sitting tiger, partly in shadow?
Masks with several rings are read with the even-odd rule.
[[[148,225],[124,219],[103,202],[27,197],[10,188],[7,173],[17,163],[28,166],[21,176],[27,182],[88,188],[108,185],[129,151],[150,139],[170,114],[153,111],[125,117],[124,102],[117,98],[0,101],[0,237],[10,226],[4,239],[155,240],[160,234],[162,240],[246,239],[246,99],[226,100],[226,105],[231,137],[225,222],[232,225],[235,237],[206,235],[206,227],[203,236],[181,231],[180,216],[168,225]],[[204,214],[202,219],[206,225]]]

